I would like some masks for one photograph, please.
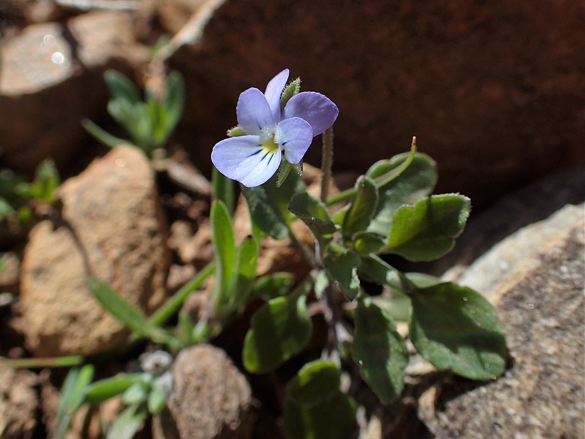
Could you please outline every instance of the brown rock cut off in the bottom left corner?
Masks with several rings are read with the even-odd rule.
[[[15,371],[0,362],[0,437],[30,439],[37,425],[39,399],[29,371]]]

